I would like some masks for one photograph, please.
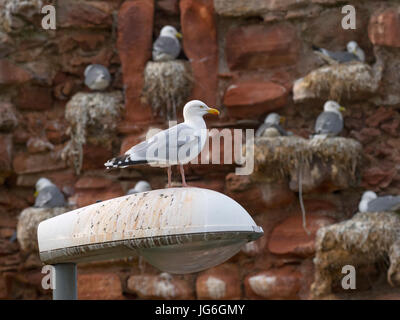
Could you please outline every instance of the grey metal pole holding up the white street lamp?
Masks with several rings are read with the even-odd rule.
[[[77,268],[75,263],[59,263],[55,268],[53,300],[77,300]]]

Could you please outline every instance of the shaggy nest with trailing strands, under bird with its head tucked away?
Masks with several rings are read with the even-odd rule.
[[[70,124],[70,141],[62,152],[62,159],[72,162],[80,174],[83,145],[90,143],[112,147],[114,132],[124,109],[122,93],[77,93],[68,102],[65,118]]]

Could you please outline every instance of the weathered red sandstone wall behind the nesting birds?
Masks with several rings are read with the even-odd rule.
[[[307,299],[318,228],[353,216],[364,189],[400,194],[398,1],[46,3],[56,5],[56,30],[40,27],[42,1],[0,0],[0,298],[51,296],[40,285],[37,252],[22,252],[18,243],[8,240],[18,214],[34,202],[39,177],[53,180],[77,206],[121,196],[139,179],[150,181],[153,188],[165,186],[161,169],[105,172],[103,167],[105,160],[140,141],[149,128],[167,126],[142,98],[144,67],[165,24],[183,33],[180,58],[191,64],[192,98],[222,111],[219,119],[207,119],[210,128],[256,128],[266,113],[277,111],[286,117],[288,130],[307,138],[323,101],[295,104],[292,87],[294,80],[322,64],[311,45],[342,50],[356,40],[368,63],[383,61],[378,93],[343,102],[347,112],[342,136],[363,147],[358,180],[355,185],[305,192],[309,236],[302,228],[298,190],[288,181],[265,182],[262,172],[261,179],[236,176],[230,165],[189,165],[190,185],[236,199],[264,228],[265,236],[227,263],[194,275],[160,274],[137,258],[81,265],[80,298]],[[356,30],[341,28],[345,3],[356,7]],[[109,91],[124,93],[125,108],[112,143],[88,140],[83,145],[82,170],[76,175],[73,165],[61,157],[71,130],[65,109],[72,96],[89,91],[83,71],[90,63],[110,69]],[[389,297],[390,288],[380,281],[385,266],[364,269],[357,292],[382,297],[382,290],[389,290],[384,291]],[[335,290],[343,298],[351,297]]]

